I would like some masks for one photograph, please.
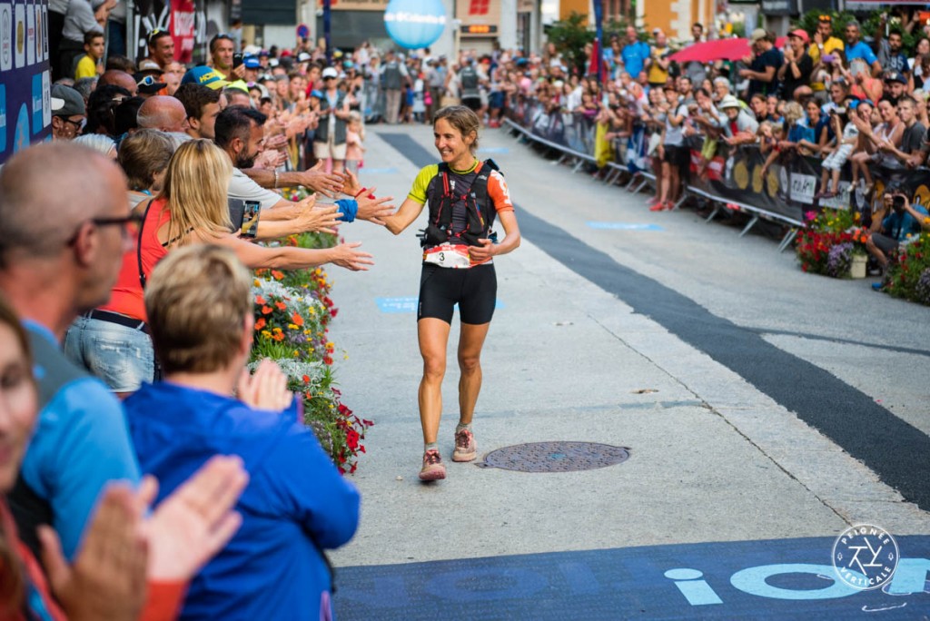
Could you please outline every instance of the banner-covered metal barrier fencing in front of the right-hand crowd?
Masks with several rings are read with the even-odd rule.
[[[570,160],[575,172],[586,164],[597,165],[596,124],[586,126],[587,119],[578,113],[547,110],[536,99],[524,99],[515,102],[505,121],[520,139],[530,139],[559,152],[559,162]],[[648,135],[643,127],[635,128],[626,144],[615,143],[615,158],[605,162],[601,158],[603,165],[599,167],[607,169],[602,176],[604,182],[613,185],[626,175],[629,177],[626,187],[632,192],[655,183],[654,158],[646,153],[647,144]],[[740,236],[751,231],[760,219],[785,224],[789,229],[778,244],[779,251],[789,247],[799,229],[805,226],[810,219],[805,218],[808,212],[817,213],[824,207],[855,209],[869,220],[872,207],[882,200],[884,188],[892,181],[901,184],[911,203],[930,204],[930,169],[923,167],[892,170],[873,165],[870,172],[874,191],[866,196],[864,183],[853,187],[847,163],[841,171],[838,194],[817,200],[821,178],[821,161],[817,158],[794,151],[782,152],[763,174],[767,156],[758,145],[733,147],[723,140],[705,145],[703,138],[693,137],[687,146],[691,150],[689,174],[675,208],[688,195],[706,198],[714,205],[707,218],[710,222],[724,205],[737,205],[751,216]]]

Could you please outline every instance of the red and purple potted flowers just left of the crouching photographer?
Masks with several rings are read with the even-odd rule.
[[[833,278],[848,278],[853,257],[866,256],[869,233],[858,226],[859,214],[845,209],[823,209],[804,215],[807,226],[795,250],[801,269]]]

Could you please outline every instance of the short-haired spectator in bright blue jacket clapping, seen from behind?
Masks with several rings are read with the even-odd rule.
[[[129,432],[159,495],[217,454],[240,456],[249,475],[235,508],[242,526],[194,576],[181,619],[329,619],[323,550],[352,538],[359,494],[299,422],[280,369],[265,361],[254,376],[243,373],[251,282],[218,246],[181,248],[159,263],[145,306],[165,381],[126,400]]]

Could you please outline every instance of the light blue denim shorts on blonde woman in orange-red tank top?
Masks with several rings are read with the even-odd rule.
[[[155,375],[152,338],[125,325],[78,317],[64,337],[64,352],[113,392],[135,392]]]

